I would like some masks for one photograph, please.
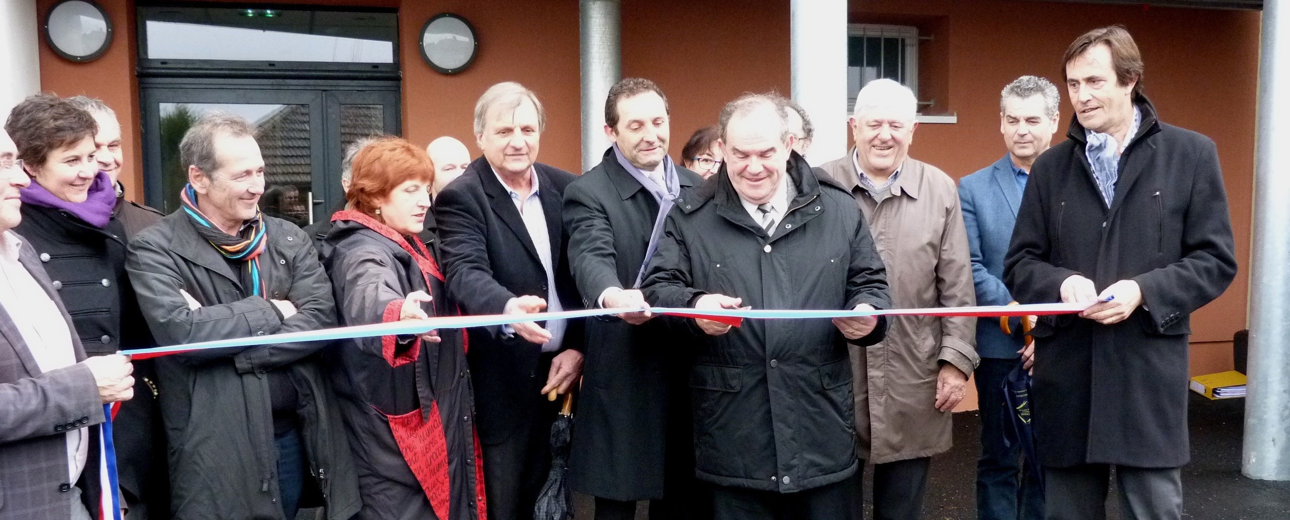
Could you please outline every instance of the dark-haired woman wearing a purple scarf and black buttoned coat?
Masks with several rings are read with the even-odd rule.
[[[36,94],[9,112],[5,130],[32,180],[21,192],[22,223],[14,232],[36,250],[85,354],[150,346],[152,337],[125,273],[125,228],[112,216],[116,189],[94,160],[94,116],[66,99]],[[123,476],[151,449],[148,435],[133,431],[129,422],[139,412],[133,408],[151,403],[139,398],[155,396],[156,387],[138,369],[135,378],[135,399],[123,404],[114,435]],[[121,480],[124,503],[138,499],[128,480]]]

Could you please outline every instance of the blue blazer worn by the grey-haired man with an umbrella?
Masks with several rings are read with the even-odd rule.
[[[1013,295],[1004,286],[1004,257],[1013,239],[1022,190],[1009,156],[958,180],[968,245],[971,248],[971,279],[977,286],[977,305],[1007,305]],[[1014,319],[1013,324],[1019,324]],[[977,353],[982,358],[1015,359],[1023,340],[1007,336],[998,327],[998,318],[980,318],[977,323]]]

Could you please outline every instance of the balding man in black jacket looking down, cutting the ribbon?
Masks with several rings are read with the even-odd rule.
[[[886,308],[888,283],[855,201],[792,152],[786,108],[747,94],[721,111],[726,163],[682,194],[645,297],[670,308]],[[858,519],[860,463],[848,342],[881,318],[684,322],[694,348],[695,474],[713,517]]]

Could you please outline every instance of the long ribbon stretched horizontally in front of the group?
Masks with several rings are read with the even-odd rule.
[[[929,315],[929,317],[1023,317],[1075,314],[1093,304],[1031,304],[1031,305],[986,305],[934,309],[882,309],[882,310],[775,310],[775,309],[677,309],[650,308],[654,314],[685,318],[711,319],[738,327],[744,319],[811,319],[811,318],[859,318],[878,315]],[[550,319],[590,318],[610,314],[633,313],[644,309],[584,309],[560,313],[534,314],[490,314],[466,317],[435,317],[428,319],[409,319],[392,323],[373,323],[352,327],[324,328],[319,331],[286,332],[264,336],[237,337],[230,340],[200,341],[183,345],[157,346],[151,349],[123,350],[133,359],[156,358],[194,350],[231,349],[239,346],[276,345],[299,341],[332,341],[375,336],[423,335],[440,328],[491,327]]]

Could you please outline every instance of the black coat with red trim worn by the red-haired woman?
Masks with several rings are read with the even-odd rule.
[[[428,220],[427,228],[432,227]],[[423,305],[426,314],[459,314],[444,282],[428,277],[427,286],[413,256],[379,230],[338,220],[326,242],[333,247],[324,265],[332,275],[342,326],[399,320],[404,297],[414,291],[435,299]],[[369,337],[342,341],[329,350],[329,368],[359,469],[362,511],[356,519],[484,519],[476,503],[484,493],[484,475],[475,450],[466,332],[440,330],[439,337],[439,344],[400,336]],[[427,443],[396,441],[393,422],[408,414],[426,420],[431,413],[437,413],[440,429],[421,438]],[[424,450],[422,456],[410,458],[409,453],[418,449]],[[442,466],[435,466],[437,461]],[[441,471],[448,478],[445,487],[423,489],[412,465]],[[427,496],[437,503],[432,505]],[[445,506],[446,515],[432,512]]]

